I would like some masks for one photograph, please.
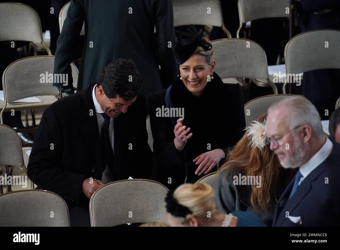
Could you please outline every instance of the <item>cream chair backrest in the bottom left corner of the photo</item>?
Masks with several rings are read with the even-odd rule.
[[[0,195],[0,227],[70,227],[66,202],[46,190]]]

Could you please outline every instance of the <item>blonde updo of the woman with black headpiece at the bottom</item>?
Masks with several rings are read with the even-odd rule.
[[[211,217],[217,212],[215,191],[205,183],[182,184],[174,191],[173,198],[192,212],[187,217],[207,218],[208,212]]]

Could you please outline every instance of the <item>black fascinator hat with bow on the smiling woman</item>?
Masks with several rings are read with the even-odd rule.
[[[176,31],[180,34],[174,52],[177,64],[183,64],[187,61],[197,46],[201,46],[205,50],[212,49],[212,45],[203,38],[202,29],[197,31],[196,27],[190,24],[187,26],[187,31]]]

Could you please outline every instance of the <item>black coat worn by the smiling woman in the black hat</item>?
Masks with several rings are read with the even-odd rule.
[[[239,84],[224,84],[215,72],[213,77],[214,80],[208,82],[203,95],[210,95],[209,98],[207,98],[209,100],[214,100],[216,97],[215,102],[206,103],[206,106],[203,107],[202,114],[198,115],[199,117],[196,115],[192,117],[192,114],[200,113],[200,111],[192,110],[192,106],[190,107],[190,105],[185,108],[183,125],[191,128],[190,132],[192,132],[193,136],[188,139],[181,153],[177,152],[173,142],[175,135],[171,118],[156,117],[156,108],[166,106],[166,89],[150,94],[150,125],[154,139],[153,149],[157,161],[155,168],[156,177],[159,182],[166,185],[169,189],[174,189],[184,183],[186,163],[192,164],[193,159],[210,149],[221,148],[227,151],[227,148],[234,146],[244,134],[244,98],[241,86]],[[219,85],[219,91],[215,91],[215,89],[208,90],[208,87],[211,88],[217,83]],[[180,77],[177,77],[175,84],[183,84]],[[174,84],[172,87],[173,86]],[[183,89],[183,91],[190,93],[186,88]],[[173,94],[180,96],[180,93]],[[190,93],[190,95],[192,94]],[[199,98],[202,98],[203,95]],[[185,100],[185,102],[190,102],[190,98]],[[208,126],[207,131],[204,131],[204,127],[206,126],[205,118],[207,116],[210,116],[209,123],[211,123],[211,126]],[[188,124],[188,119],[191,119],[193,122]],[[211,145],[210,149],[207,149],[207,143]],[[169,183],[168,178],[171,178],[171,183]]]

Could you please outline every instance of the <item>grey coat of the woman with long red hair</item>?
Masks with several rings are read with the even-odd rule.
[[[228,175],[227,179],[224,180],[226,171],[228,170],[224,169],[220,172],[214,188],[216,193],[215,200],[218,208],[225,213],[239,210],[252,213],[267,226],[271,226],[273,223],[276,201],[273,201],[273,205],[268,211],[255,210],[250,200],[252,192],[251,185],[233,184],[233,176],[238,176],[239,172],[232,172]],[[276,196],[280,197],[283,190],[284,185],[282,185],[281,182],[278,182]]]

